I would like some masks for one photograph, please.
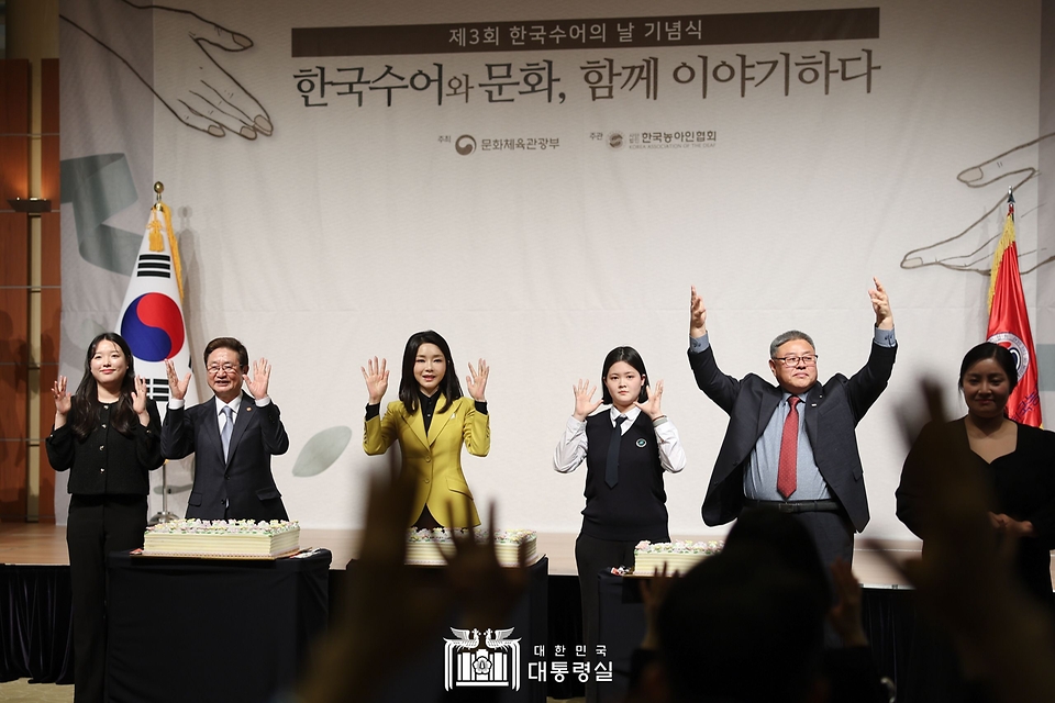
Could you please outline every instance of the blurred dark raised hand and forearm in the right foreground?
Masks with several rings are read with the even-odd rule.
[[[908,577],[920,611],[947,628],[960,661],[984,672],[999,700],[1055,701],[1051,615],[1022,590],[1013,561],[998,546],[988,511],[993,502],[989,482],[967,443],[946,424],[940,387],[926,383],[924,397],[940,427],[930,442],[913,448],[925,467],[926,558],[899,563],[881,545],[871,546]],[[906,426],[907,438],[914,434],[914,427]]]

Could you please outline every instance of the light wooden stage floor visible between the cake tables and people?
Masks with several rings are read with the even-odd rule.
[[[303,529],[300,544],[333,553],[334,569],[343,569],[358,555],[358,529]],[[574,533],[538,533],[538,554],[549,557],[551,576],[575,576]],[[674,539],[713,539],[713,536],[673,535]],[[921,543],[889,540],[882,544],[899,560],[919,556]],[[66,527],[36,523],[0,523],[0,563],[68,565]],[[865,540],[857,540],[854,573],[867,588],[902,588],[907,582]]]

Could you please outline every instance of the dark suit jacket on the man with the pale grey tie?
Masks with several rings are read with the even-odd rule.
[[[271,455],[286,454],[287,449],[289,437],[278,406],[273,402],[259,408],[245,392],[226,461],[215,395],[193,408],[169,408],[162,425],[162,454],[166,459],[195,455],[195,486],[187,517],[289,520],[271,476]]]

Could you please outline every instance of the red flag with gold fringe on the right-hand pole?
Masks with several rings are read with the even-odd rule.
[[[1030,315],[1022,294],[1019,247],[1014,243],[1014,197],[1008,196],[1003,235],[992,256],[989,274],[989,342],[1008,347],[1019,367],[1019,384],[1008,399],[1008,417],[1024,425],[1041,426],[1041,397],[1036,382],[1036,353]]]

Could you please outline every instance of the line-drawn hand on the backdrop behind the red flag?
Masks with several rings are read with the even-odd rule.
[[[1045,134],[1032,142],[1020,144],[1012,149],[993,156],[976,166],[970,166],[962,170],[956,179],[968,188],[986,188],[993,183],[999,183],[999,189],[989,189],[990,194],[996,197],[995,204],[989,208],[980,217],[970,223],[964,231],[955,234],[947,239],[929,244],[918,249],[912,249],[901,259],[901,268],[922,268],[924,266],[941,266],[953,269],[954,271],[974,271],[984,276],[989,276],[992,266],[992,255],[996,250],[997,242],[1003,232],[1002,223],[1004,216],[1004,207],[1008,197],[1008,187],[1019,189],[1033,181],[1031,188],[1036,188],[1035,178],[1040,171],[1036,169],[1036,145],[1055,137],[1055,132]],[[1029,199],[1017,198],[1020,203],[1039,203],[1043,199],[1033,196]],[[1026,209],[1032,210],[1032,208]],[[1019,213],[1021,214],[1021,212]],[[995,233],[985,242],[978,243],[978,227],[985,226],[987,221],[997,223]],[[973,235],[973,236],[968,236]],[[1055,253],[1050,249],[1036,250],[1036,264],[1028,268],[1022,268],[1022,274],[1040,268],[1041,266],[1055,259]],[[1034,254],[1033,250],[1019,250],[1019,256]]]

